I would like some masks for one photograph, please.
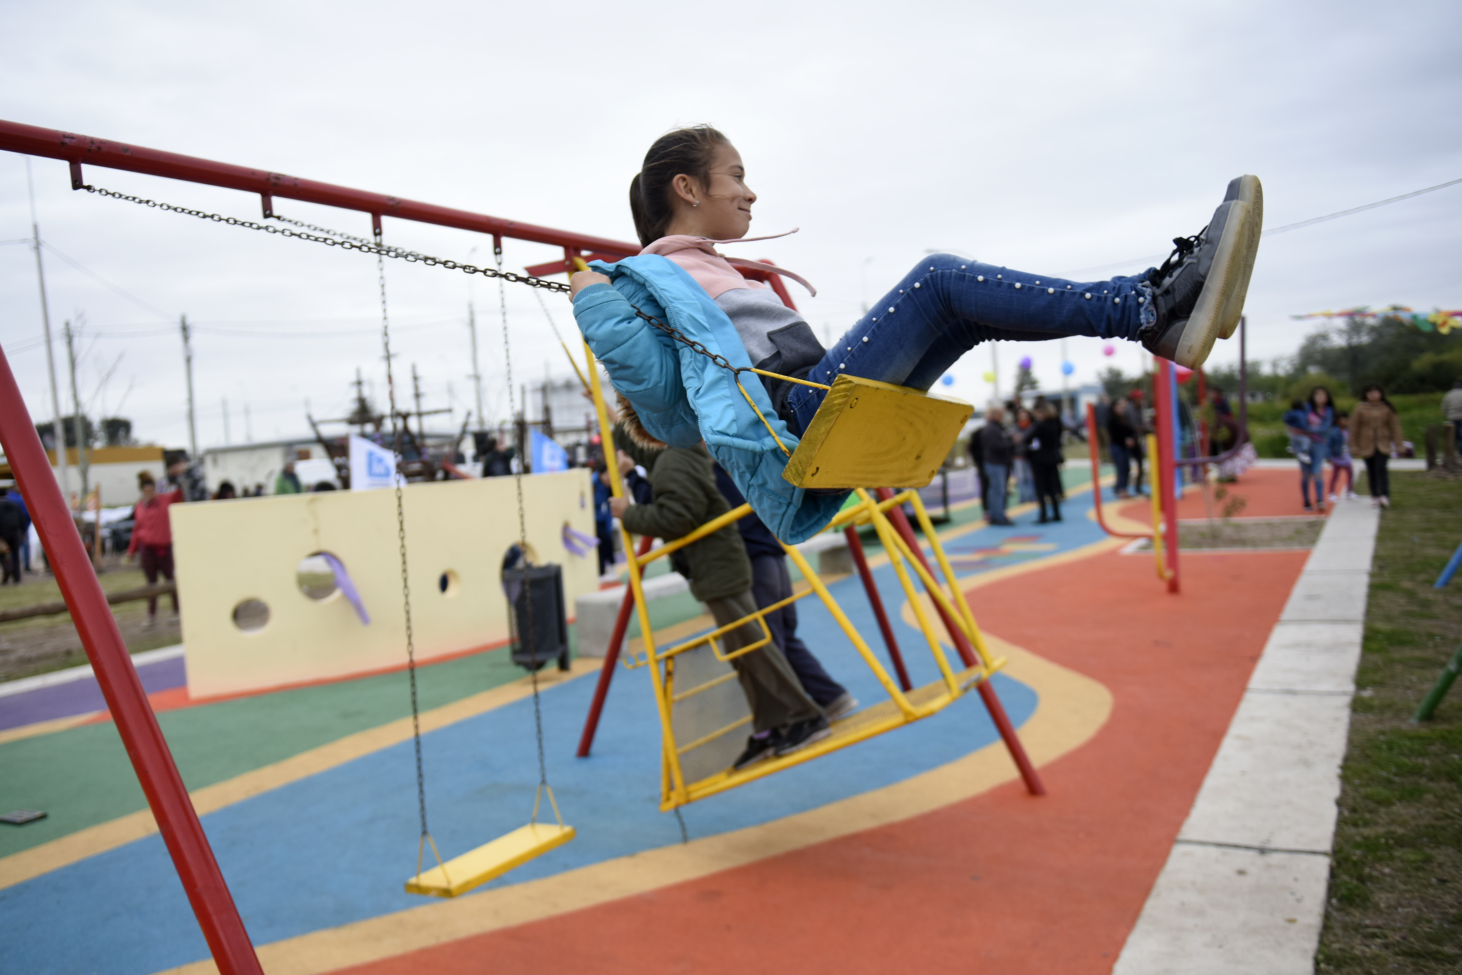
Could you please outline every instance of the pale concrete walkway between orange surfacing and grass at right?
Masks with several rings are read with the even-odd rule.
[[[1314,971],[1377,526],[1330,515],[1116,975]]]

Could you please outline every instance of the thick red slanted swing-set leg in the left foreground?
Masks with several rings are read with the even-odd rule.
[[[203,835],[203,824],[178,775],[156,715],[127,656],[117,621],[107,605],[86,548],[82,545],[51,463],[31,424],[4,351],[0,349],[0,447],[41,535],[41,545],[56,572],[76,633],[86,648],[107,709],[142,784],[158,832],[183,881],[189,903],[222,975],[263,975],[249,933],[234,906],[224,874]]]

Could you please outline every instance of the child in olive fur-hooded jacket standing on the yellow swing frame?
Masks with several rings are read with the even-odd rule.
[[[703,444],[642,446],[649,440],[648,434],[633,417],[627,422],[632,427],[620,422],[614,428],[614,443],[645,468],[655,494],[649,504],[630,504],[623,497],[610,501],[626,531],[674,541],[731,510],[716,490],[711,455]],[[629,434],[630,428],[637,428],[637,439]],[[677,570],[690,580],[690,593],[706,604],[718,627],[756,612],[751,563],[735,525],[727,525],[680,551],[684,558],[678,560]],[[732,653],[759,639],[762,627],[747,623],[727,633],[721,642],[725,652]],[[731,665],[751,707],[754,729],[734,767],[749,766],[773,753],[789,754],[827,737],[827,718],[803,690],[775,643],[732,658]]]

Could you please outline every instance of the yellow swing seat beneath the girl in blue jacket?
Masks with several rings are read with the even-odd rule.
[[[961,399],[839,376],[782,477],[800,488],[925,487],[974,412]]]

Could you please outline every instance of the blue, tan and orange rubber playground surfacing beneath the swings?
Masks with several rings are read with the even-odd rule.
[[[401,893],[415,808],[399,738],[206,814],[266,969],[816,972],[899,959],[1108,971],[1304,553],[1186,553],[1184,595],[1174,598],[1151,557],[1117,554],[1120,544],[1083,517],[1088,506],[1073,491],[1061,525],[1025,516],[1006,534],[943,532],[981,624],[1012,656],[997,686],[1050,795],[1023,792],[982,710],[961,702],[689,807],[692,842],[681,845],[674,819],[655,810],[658,732],[643,677],[616,677],[586,762],[567,756],[592,686],[569,680],[544,706],[554,781],[579,839],[480,893],[427,903]],[[892,570],[877,572],[892,592]],[[808,643],[858,696],[876,699],[830,620],[804,605]],[[845,605],[867,615],[855,598]],[[901,615],[908,643],[917,630],[908,607]],[[874,630],[871,618],[854,621]],[[520,824],[531,805],[531,713],[510,687],[499,706],[425,740],[444,855]],[[209,709],[238,703],[175,716],[192,712],[205,735]],[[9,765],[4,751],[0,762]],[[184,775],[197,788],[186,763]],[[64,841],[22,855],[35,867]],[[155,835],[20,883],[9,880],[13,861],[0,860],[6,968],[151,972],[206,956]]]

